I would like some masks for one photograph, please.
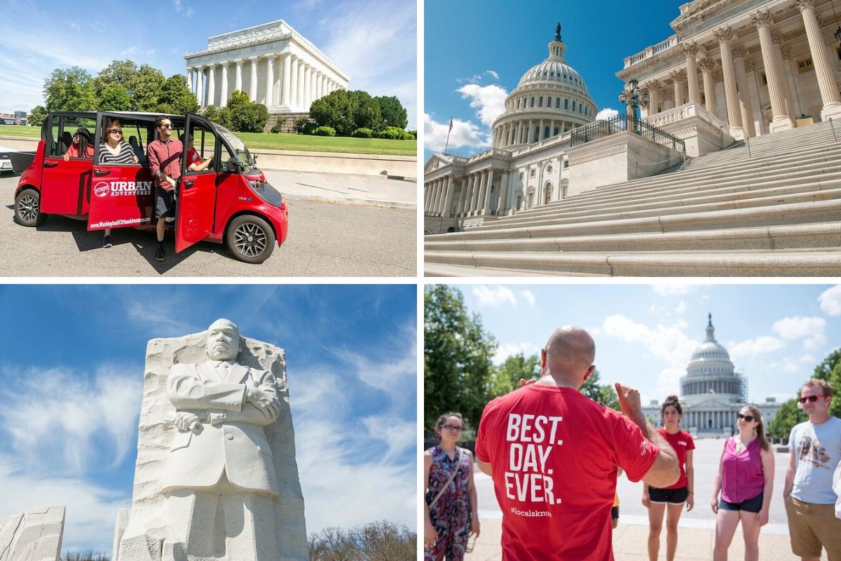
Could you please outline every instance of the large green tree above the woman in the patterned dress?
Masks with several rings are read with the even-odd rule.
[[[334,92],[335,93],[335,92]],[[473,426],[487,403],[496,349],[479,315],[468,315],[458,288],[424,288],[424,426],[438,415],[459,411]]]

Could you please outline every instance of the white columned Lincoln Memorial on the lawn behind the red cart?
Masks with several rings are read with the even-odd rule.
[[[241,90],[269,114],[307,114],[310,103],[350,79],[283,19],[210,37],[207,49],[184,59],[203,108],[225,107],[230,93]]]

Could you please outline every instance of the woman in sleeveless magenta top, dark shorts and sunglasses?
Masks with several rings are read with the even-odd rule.
[[[759,528],[768,523],[774,490],[774,453],[765,438],[762,414],[753,405],[745,405],[738,412],[736,425],[738,435],[724,442],[713,485],[711,506],[716,513],[713,561],[726,561],[727,548],[739,521],[745,561],[759,559]]]

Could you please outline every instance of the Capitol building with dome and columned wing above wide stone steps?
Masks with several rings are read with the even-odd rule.
[[[643,100],[635,109],[627,103],[628,113],[659,135],[621,145],[576,132],[599,126],[598,108],[564,59],[558,25],[547,58],[505,99],[489,150],[436,153],[426,161],[425,234],[492,225],[523,209],[648,177],[678,162],[675,142],[687,156],[702,156],[841,118],[837,25],[831,0],[683,4],[674,34],[627,56],[616,72],[626,98]]]

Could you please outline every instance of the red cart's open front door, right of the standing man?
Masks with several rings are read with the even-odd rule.
[[[182,251],[214,233],[216,185],[219,177],[220,141],[213,125],[196,114],[187,114],[184,125],[184,152],[181,158],[181,181],[176,204],[175,251]],[[204,170],[190,171],[190,138],[198,159],[213,158]]]

